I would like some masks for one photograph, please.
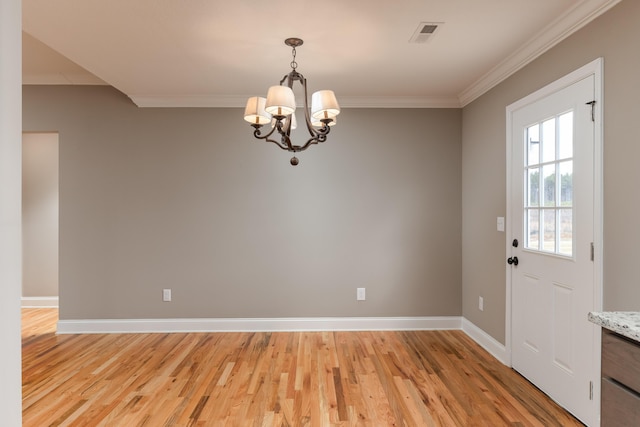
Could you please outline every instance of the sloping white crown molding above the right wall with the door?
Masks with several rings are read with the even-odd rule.
[[[542,28],[538,34],[520,47],[516,52],[493,67],[487,74],[462,91],[460,106],[471,103],[475,99],[515,74],[534,59],[566,39],[621,0],[583,0],[566,13]]]

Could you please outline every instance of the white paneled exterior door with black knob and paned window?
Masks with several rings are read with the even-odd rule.
[[[599,414],[598,329],[587,320],[597,308],[594,87],[590,75],[509,111],[511,362],[587,425]]]

